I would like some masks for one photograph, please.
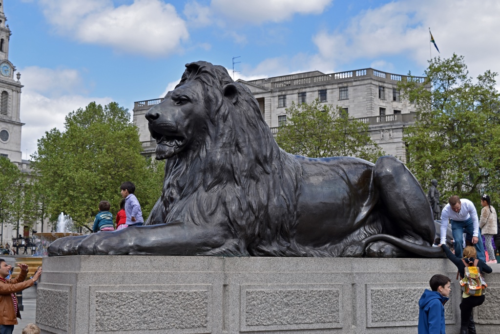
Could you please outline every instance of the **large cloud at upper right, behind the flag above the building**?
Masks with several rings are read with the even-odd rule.
[[[498,16],[500,3],[494,0],[482,1],[480,6],[466,0],[391,2],[361,12],[345,28],[318,32],[313,37],[318,53],[311,62],[336,68],[355,59],[396,56],[426,67],[430,27],[440,56],[448,58],[453,52],[465,56],[476,76],[496,66],[500,52]],[[437,55],[432,46],[432,57]]]

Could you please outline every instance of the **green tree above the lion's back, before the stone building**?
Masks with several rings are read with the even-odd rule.
[[[286,109],[286,124],[276,142],[286,152],[311,158],[352,156],[374,162],[384,155],[373,142],[368,125],[348,117],[340,107],[312,103]]]

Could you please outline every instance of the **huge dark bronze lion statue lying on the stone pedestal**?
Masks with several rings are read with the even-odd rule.
[[[187,64],[145,117],[166,160],[145,226],[57,239],[50,256],[442,257],[427,196],[400,161],[284,152],[221,66]]]

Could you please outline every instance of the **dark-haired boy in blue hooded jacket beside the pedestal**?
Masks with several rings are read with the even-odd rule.
[[[444,275],[430,277],[432,291],[423,291],[418,301],[418,334],[445,334],[444,303],[451,292],[450,281]]]

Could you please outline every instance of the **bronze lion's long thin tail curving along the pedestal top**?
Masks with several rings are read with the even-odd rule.
[[[441,247],[422,246],[388,234],[375,234],[366,237],[361,241],[355,242],[354,244],[345,247],[340,256],[361,257],[364,255],[366,245],[370,242],[375,242],[375,241],[386,241],[403,250],[406,250],[410,253],[423,257],[430,257],[430,258],[446,257]]]

